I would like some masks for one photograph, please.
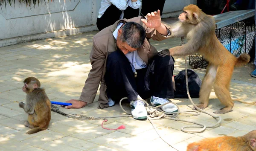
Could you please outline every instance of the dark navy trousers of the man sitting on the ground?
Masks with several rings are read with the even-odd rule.
[[[174,59],[172,56],[154,56],[146,68],[136,70],[134,77],[128,58],[120,50],[111,52],[107,58],[105,83],[107,95],[113,101],[120,101],[128,97],[131,102],[137,99],[138,94],[142,99],[151,96],[160,98],[174,98],[172,76]]]

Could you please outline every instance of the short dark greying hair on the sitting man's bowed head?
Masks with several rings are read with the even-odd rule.
[[[132,48],[140,48],[146,38],[146,32],[139,23],[128,22],[122,27],[120,38]]]

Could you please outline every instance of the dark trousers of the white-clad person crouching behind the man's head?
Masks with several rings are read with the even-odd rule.
[[[138,17],[139,16],[140,9],[133,9],[130,6],[128,6],[124,10],[124,18],[130,19],[133,17]],[[117,20],[119,20],[119,17],[121,16],[122,11],[118,9],[116,6],[113,4],[106,9],[102,17],[97,18],[96,25],[101,31],[102,29],[113,25]]]

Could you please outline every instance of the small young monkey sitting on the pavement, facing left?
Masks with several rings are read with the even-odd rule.
[[[40,88],[40,81],[35,77],[26,78],[22,87],[26,93],[26,103],[20,102],[19,106],[28,113],[25,126],[32,128],[26,134],[34,134],[46,130],[51,120],[51,102],[44,88]]]

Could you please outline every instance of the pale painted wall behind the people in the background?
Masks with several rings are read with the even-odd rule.
[[[35,8],[15,1],[0,11],[0,46],[97,30],[101,0],[54,0]],[[195,0],[166,0],[163,17],[174,17]]]

